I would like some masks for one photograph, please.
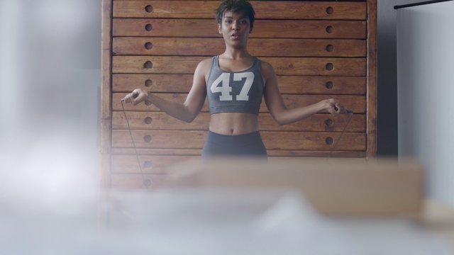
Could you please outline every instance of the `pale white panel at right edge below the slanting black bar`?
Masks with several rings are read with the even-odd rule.
[[[399,157],[425,164],[428,196],[454,206],[454,1],[397,11]]]

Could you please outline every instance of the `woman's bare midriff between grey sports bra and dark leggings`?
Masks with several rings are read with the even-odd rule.
[[[258,131],[258,115],[251,113],[211,114],[211,132],[221,135],[243,135]]]

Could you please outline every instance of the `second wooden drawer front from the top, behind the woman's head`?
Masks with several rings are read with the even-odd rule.
[[[365,39],[365,21],[257,20],[250,38]],[[114,36],[221,38],[213,19],[114,18]]]

